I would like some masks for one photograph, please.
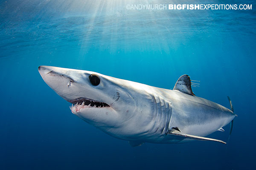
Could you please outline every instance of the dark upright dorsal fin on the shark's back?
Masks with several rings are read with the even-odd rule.
[[[195,96],[195,94],[192,92],[190,77],[186,74],[183,76],[180,76],[180,78],[176,82],[173,90],[177,90],[182,93],[186,93],[186,94]]]

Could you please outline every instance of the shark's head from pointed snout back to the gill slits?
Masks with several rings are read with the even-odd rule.
[[[72,103],[72,113],[106,133],[116,137],[141,133],[138,121],[147,127],[141,122],[149,123],[145,115],[154,101],[150,92],[144,93],[146,85],[91,71],[51,66],[38,70],[59,96]]]

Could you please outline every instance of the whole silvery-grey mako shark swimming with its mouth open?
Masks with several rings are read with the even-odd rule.
[[[195,96],[188,75],[173,90],[52,66],[38,68],[44,81],[72,103],[72,113],[131,146],[149,143],[215,141],[207,136],[235,118],[231,110]]]

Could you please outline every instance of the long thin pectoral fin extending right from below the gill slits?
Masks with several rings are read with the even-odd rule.
[[[186,133],[182,133],[182,132],[180,132],[178,127],[172,127],[172,129],[169,130],[167,132],[167,134],[176,135],[176,136],[183,136],[184,138],[189,138],[189,139],[202,140],[202,141],[215,141],[215,142],[221,142],[223,144],[226,144],[226,142],[223,142],[223,141],[218,140],[218,139],[212,139],[212,138],[206,138],[206,137],[202,137],[202,136],[195,136],[195,135],[189,135],[189,134],[186,134]]]

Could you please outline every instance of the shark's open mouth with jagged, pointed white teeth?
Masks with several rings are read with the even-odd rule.
[[[104,102],[97,102],[92,99],[80,97],[74,100],[69,100],[68,102],[72,103],[70,106],[70,110],[72,113],[77,113],[80,111],[81,108],[106,108],[110,107],[107,103]]]

